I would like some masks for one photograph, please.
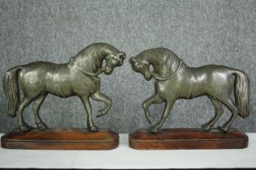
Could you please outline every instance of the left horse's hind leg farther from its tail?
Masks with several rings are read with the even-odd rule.
[[[36,123],[37,123],[37,128],[39,130],[46,130],[47,125],[44,121],[41,121],[41,117],[39,116],[39,109],[41,107],[41,104],[44,102],[46,99],[47,94],[44,93],[41,96],[38,96],[33,104],[33,113],[36,118]]]

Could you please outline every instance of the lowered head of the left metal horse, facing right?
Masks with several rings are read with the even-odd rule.
[[[126,54],[124,52],[110,53],[106,56],[106,66],[103,68],[104,73],[109,75],[113,72],[116,66],[122,66]]]

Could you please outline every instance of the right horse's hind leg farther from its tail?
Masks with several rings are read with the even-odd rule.
[[[210,101],[211,103],[214,105],[215,107],[215,117],[213,117],[212,119],[210,119],[210,121],[208,121],[206,124],[202,125],[202,129],[209,131],[210,128],[215,125],[215,122],[219,120],[219,117],[222,116],[223,114],[223,109],[222,109],[222,104],[219,100],[215,99],[214,97],[210,97]]]

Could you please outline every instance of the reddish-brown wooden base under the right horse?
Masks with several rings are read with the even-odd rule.
[[[139,150],[241,149],[248,146],[248,136],[235,129],[228,133],[217,129],[166,129],[157,134],[136,130],[129,134],[129,146]]]

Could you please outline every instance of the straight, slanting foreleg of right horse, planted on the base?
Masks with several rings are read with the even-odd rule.
[[[150,132],[158,133],[158,130],[160,130],[160,128],[163,126],[164,121],[166,121],[167,117],[170,115],[170,111],[174,102],[175,100],[167,100],[161,120],[158,121],[158,123],[154,125],[152,128],[150,128]]]

